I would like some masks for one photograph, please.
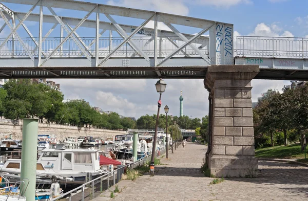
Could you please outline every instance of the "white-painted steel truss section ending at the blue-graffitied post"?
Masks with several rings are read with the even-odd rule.
[[[46,69],[51,67],[153,67],[156,74],[161,77],[161,72],[157,70],[158,66],[203,66],[205,68],[211,64],[233,64],[233,59],[229,59],[230,53],[233,58],[233,40],[228,39],[233,37],[231,24],[70,0],[1,0],[0,2],[0,15],[5,20],[6,26],[11,29],[7,37],[0,38],[2,67],[40,68],[48,75],[57,77],[61,75]],[[21,13],[11,11],[2,3],[32,7],[29,12]],[[32,13],[36,7],[40,8],[38,14]],[[82,14],[83,18],[60,16],[55,12],[55,8],[74,11],[79,13],[78,16],[81,15],[80,11],[86,14]],[[50,11],[52,15],[44,14],[45,10]],[[96,14],[95,20],[88,19],[92,13]],[[109,22],[100,20],[100,14],[104,14]],[[144,21],[140,26],[122,25],[113,16]],[[38,22],[36,29],[39,33],[38,37],[34,37],[25,21]],[[153,26],[148,25],[150,22],[153,22]],[[43,36],[42,30],[46,23],[51,23],[53,26]],[[158,23],[165,24],[165,27],[170,30],[159,29]],[[48,37],[58,25],[60,37]],[[198,28],[201,31],[195,35],[181,33],[176,28],[179,25]],[[21,26],[29,35],[28,38],[21,38],[17,34]],[[95,36],[80,37],[76,33],[80,27],[95,29]],[[102,37],[108,30],[109,36]],[[67,33],[65,36],[63,31]],[[117,32],[120,37],[114,37],[112,32]],[[209,32],[210,36],[203,36],[206,32]],[[13,76],[14,73],[4,74]],[[107,73],[104,75],[109,76]]]

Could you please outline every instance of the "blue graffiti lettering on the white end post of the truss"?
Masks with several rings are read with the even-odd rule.
[[[224,35],[223,35],[224,32]],[[220,52],[220,46],[224,42],[224,51],[225,55],[232,56],[233,52],[233,30],[232,27],[224,26],[224,25],[217,25],[216,27],[216,52]]]

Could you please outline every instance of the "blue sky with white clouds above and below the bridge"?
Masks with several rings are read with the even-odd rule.
[[[91,3],[108,4],[166,12],[208,20],[222,21],[234,25],[234,36],[285,36],[308,37],[308,15],[306,0],[87,0]],[[7,4],[14,11],[27,12],[29,6]],[[47,10],[47,9],[46,9]],[[74,16],[72,11],[55,9],[59,15]],[[33,11],[38,13],[38,9]],[[49,11],[45,11],[49,14]],[[81,17],[81,16],[74,16]],[[89,19],[95,19],[91,15]],[[135,19],[115,18],[119,23],[138,25]],[[100,20],[108,21],[100,16]],[[0,26],[3,21],[0,20]],[[31,30],[35,23],[27,22]],[[52,25],[51,25],[52,26]],[[50,26],[50,27],[51,27]],[[34,29],[34,28],[33,28]],[[0,34],[5,35],[4,33]],[[49,31],[43,28],[43,35]],[[183,28],[186,33],[197,33],[194,29]],[[89,31],[78,29],[77,33],[85,36]],[[18,32],[19,33],[19,32]],[[20,35],[25,34],[20,30]],[[61,84],[65,99],[85,99],[92,106],[110,110],[127,117],[139,118],[142,115],[157,113],[159,94],[156,92],[154,79],[54,79]],[[162,105],[169,106],[169,115],[179,116],[180,92],[183,91],[183,113],[191,118],[202,118],[208,114],[208,92],[203,79],[166,79],[166,91],[162,95]],[[269,88],[281,90],[290,81],[252,80],[252,100],[257,101],[261,93]],[[161,110],[161,114],[163,109]]]

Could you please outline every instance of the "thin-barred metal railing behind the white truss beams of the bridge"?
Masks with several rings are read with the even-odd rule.
[[[60,37],[47,37],[42,39],[42,52],[43,57],[49,55],[64,38]],[[188,37],[189,39],[189,37]],[[5,40],[5,38],[0,38],[0,44]],[[38,56],[37,46],[38,38],[22,38],[23,42],[26,44],[28,50],[33,54],[34,57]],[[91,57],[95,57],[95,37],[80,37],[78,38],[82,47],[85,48],[87,54]],[[119,44],[123,42],[121,37],[101,37],[99,39],[99,56],[107,56],[113,49],[115,49]],[[144,37],[132,37],[130,39],[134,44],[136,44],[146,55],[149,57],[154,56],[154,39],[150,36]],[[179,37],[158,37],[157,40],[157,52],[159,57],[165,57],[169,55],[172,51],[176,50],[178,47],[184,44],[185,41]],[[193,44],[196,47],[200,47],[203,54],[208,55],[208,40],[198,38]],[[178,52],[174,57],[199,57],[198,53],[195,52],[191,47],[187,46],[183,51]],[[27,51],[24,49],[20,41],[17,39],[9,39],[5,46],[0,50],[0,57],[29,57]],[[76,45],[72,38],[69,38],[64,42],[61,48],[53,54],[52,57],[85,57],[81,49]],[[139,53],[134,50],[128,42],[124,43],[123,46],[116,51],[112,57],[139,57]]]

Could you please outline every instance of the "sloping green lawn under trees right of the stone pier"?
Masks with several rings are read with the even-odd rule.
[[[256,157],[268,159],[303,159],[304,151],[298,144],[256,149]]]

